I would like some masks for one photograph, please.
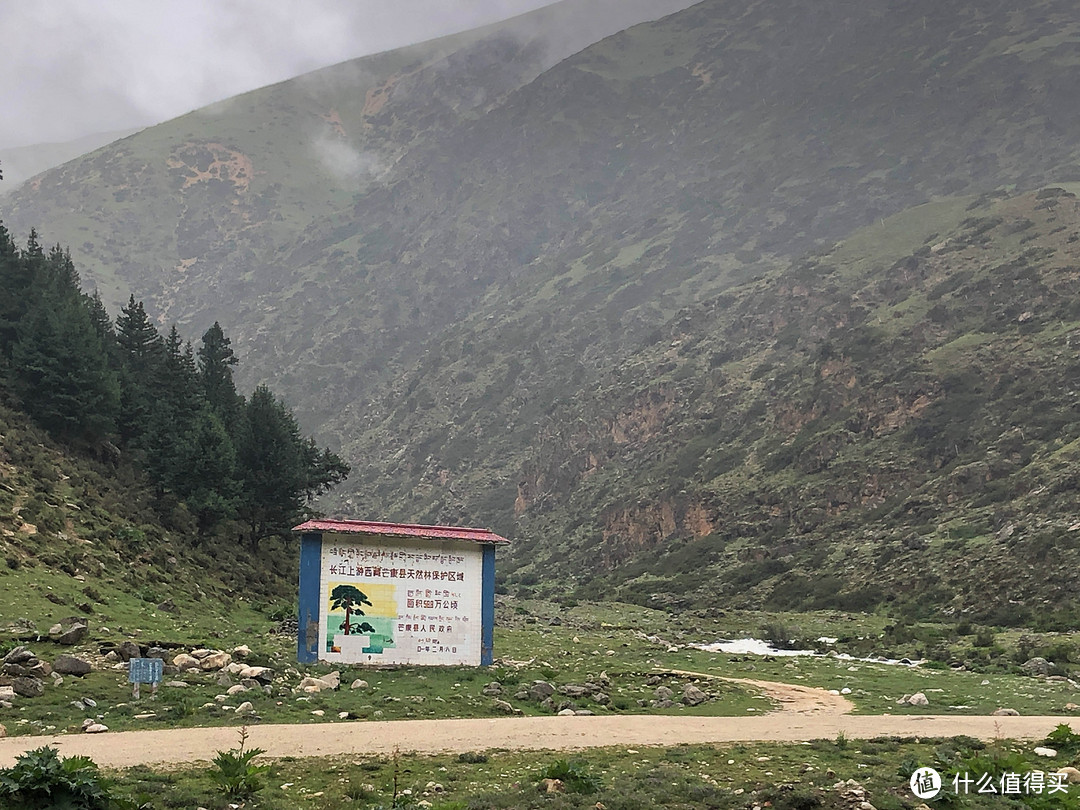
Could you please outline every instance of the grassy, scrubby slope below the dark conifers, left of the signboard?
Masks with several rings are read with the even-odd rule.
[[[72,455],[0,405],[0,631],[44,634],[83,617],[97,638],[195,642],[261,626],[295,597],[296,555],[271,544],[257,562],[200,548],[162,524],[167,509],[124,464]]]

